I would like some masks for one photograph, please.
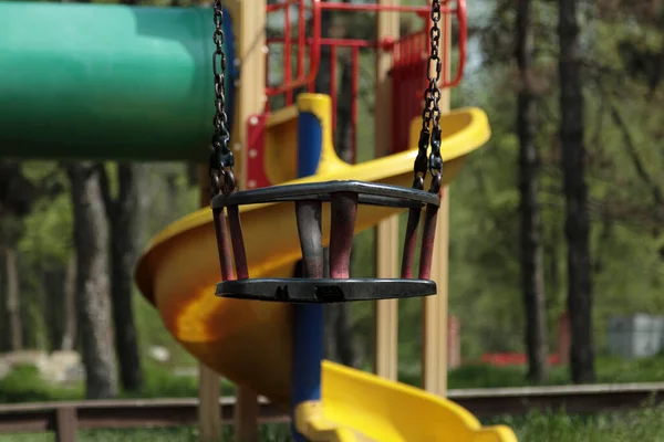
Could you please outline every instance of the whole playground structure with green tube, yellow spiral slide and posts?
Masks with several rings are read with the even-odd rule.
[[[464,0],[443,3],[445,108],[449,90],[461,80],[466,15]],[[287,0],[268,6],[263,0],[251,4],[236,0],[226,7],[226,53],[232,67],[227,75],[227,104],[234,109],[231,140],[241,189],[350,179],[411,185],[422,126],[428,6],[400,6],[395,0],[376,4]],[[373,12],[376,40],[322,38],[321,15],[330,10]],[[400,38],[400,13],[422,20],[423,29]],[[268,39],[266,25],[274,17],[283,20],[282,35]],[[40,23],[39,32],[27,32],[27,22]],[[0,115],[7,116],[0,123],[0,154],[49,159],[206,160],[214,95],[209,78],[211,11],[11,2],[0,3],[0,63],[13,67],[0,73],[0,95],[6,97]],[[458,32],[454,74],[453,23]],[[274,46],[283,54],[279,67],[270,59]],[[330,53],[329,95],[314,93],[321,48]],[[373,51],[376,60],[374,144],[380,158],[357,165],[342,161],[334,150],[336,54],[341,51],[350,52],[351,60],[352,158],[357,151],[362,51]],[[52,72],[44,78],[45,66]],[[267,81],[268,73],[276,70],[282,72],[277,85]],[[43,86],[39,94],[27,86],[31,80]],[[45,116],[52,130],[37,130]],[[489,126],[480,109],[463,108],[443,115],[440,127],[445,198],[430,275],[438,295],[423,298],[426,391],[395,382],[395,299],[376,303],[375,375],[370,375],[321,362],[322,328],[315,323],[322,318],[322,306],[215,296],[220,275],[209,208],[175,222],[152,241],[137,264],[136,282],[173,336],[205,365],[203,438],[214,436],[219,414],[211,369],[238,385],[236,434],[242,441],[257,436],[257,394],[290,409],[297,436],[305,440],[515,440],[507,428],[481,429],[477,419],[444,399],[447,186],[460,172],[467,155],[486,143]],[[207,203],[209,198],[203,200]],[[322,219],[329,220],[325,210]],[[302,256],[292,204],[256,204],[242,207],[240,212],[251,276],[291,276]],[[398,273],[402,212],[366,207],[357,211],[356,233],[376,228],[376,273],[381,277]],[[324,221],[322,228],[328,238],[330,222]]]

